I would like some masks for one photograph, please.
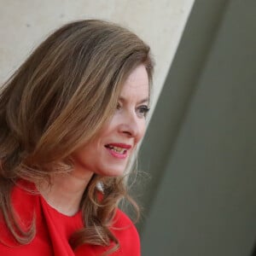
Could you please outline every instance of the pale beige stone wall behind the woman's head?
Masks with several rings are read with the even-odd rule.
[[[154,102],[194,0],[0,0],[0,83],[49,32],[69,20],[99,18],[129,27],[152,48]]]

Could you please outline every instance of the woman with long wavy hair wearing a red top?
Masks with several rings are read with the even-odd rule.
[[[0,95],[0,254],[140,255],[127,166],[145,131],[149,48],[102,20],[62,26]]]

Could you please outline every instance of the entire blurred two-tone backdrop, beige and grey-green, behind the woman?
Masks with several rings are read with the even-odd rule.
[[[250,256],[254,0],[0,0],[0,7],[1,83],[69,20],[116,21],[148,42],[156,61],[155,109],[139,162],[148,174],[133,188],[144,208],[137,225],[143,256]]]

